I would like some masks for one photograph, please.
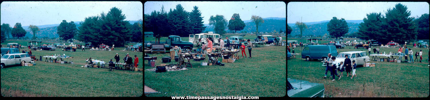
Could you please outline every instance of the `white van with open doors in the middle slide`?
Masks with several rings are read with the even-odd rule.
[[[209,38],[209,37],[213,39],[212,41],[213,44],[219,44],[218,39],[221,38],[221,36],[219,34],[213,34],[212,32],[200,33],[195,35],[190,34],[188,41],[193,44],[197,44],[197,41],[199,41],[199,38],[202,38],[203,44],[206,44],[207,43],[206,38]]]

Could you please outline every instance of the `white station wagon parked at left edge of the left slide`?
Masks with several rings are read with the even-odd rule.
[[[19,65],[24,66],[24,63],[30,62],[32,59],[30,55],[27,53],[13,53],[13,54],[5,54],[1,57],[1,68],[10,65]]]

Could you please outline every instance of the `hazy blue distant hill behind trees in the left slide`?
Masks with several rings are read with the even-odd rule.
[[[76,24],[76,27],[80,26],[80,22],[81,21],[74,21],[74,23]],[[129,21],[130,24],[134,24],[136,22],[137,21]],[[38,38],[43,38],[43,37],[58,38],[58,34],[57,34],[57,26],[58,25],[60,25],[60,24],[49,24],[49,25],[37,26],[37,27],[39,27],[40,32],[37,32],[36,37],[38,37]],[[31,32],[30,29],[28,29],[28,26],[22,26],[22,28],[24,28],[25,31],[27,32],[27,34],[25,34],[24,37],[26,37],[26,36],[29,38],[33,37],[33,33]]]

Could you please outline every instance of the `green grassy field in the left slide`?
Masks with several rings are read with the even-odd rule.
[[[24,43],[27,41],[6,41]],[[39,56],[66,54],[74,57],[75,64],[58,64],[37,61],[34,66],[12,66],[1,69],[1,94],[4,97],[138,97],[143,94],[143,72],[115,70],[107,68],[83,68],[86,59],[114,59],[115,53],[123,59],[126,53],[139,58],[139,68],[143,68],[142,52],[123,51],[116,47],[113,51],[88,50],[76,52],[62,50],[32,50]],[[20,49],[21,51],[22,49]],[[27,49],[24,49],[27,50]],[[43,58],[44,59],[44,58]],[[115,60],[115,59],[114,59]],[[120,62],[123,62],[121,60]],[[133,60],[134,62],[134,60]]]

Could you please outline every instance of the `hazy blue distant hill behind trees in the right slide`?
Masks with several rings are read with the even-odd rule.
[[[307,25],[307,29],[304,30],[303,35],[318,36],[318,35],[324,35],[326,33],[327,35],[330,35],[329,32],[327,31],[327,24],[329,24],[329,22]],[[347,25],[349,27],[347,34],[358,32],[359,24],[350,22]],[[293,31],[291,32],[291,35],[300,35],[300,29],[298,29],[298,27],[291,26],[291,28],[293,29]]]

